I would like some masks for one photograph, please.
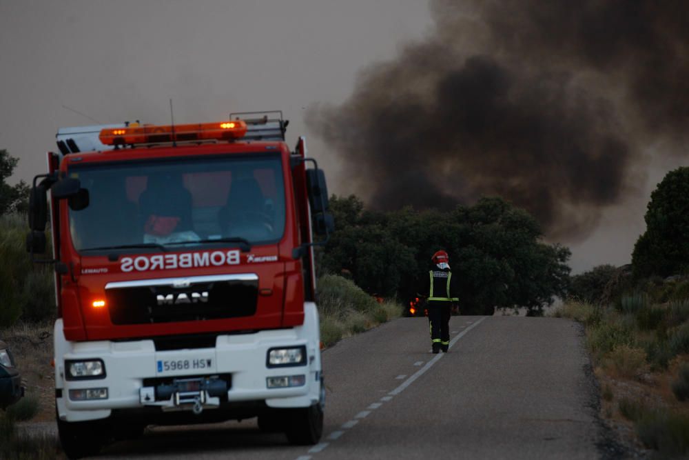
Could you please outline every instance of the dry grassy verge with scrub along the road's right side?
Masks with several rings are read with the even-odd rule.
[[[686,305],[652,305],[639,294],[625,297],[619,310],[569,301],[551,314],[586,325],[602,417],[628,443],[659,458],[689,453],[689,401],[676,396],[689,369]]]

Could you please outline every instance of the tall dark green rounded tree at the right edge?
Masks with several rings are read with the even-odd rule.
[[[689,271],[689,168],[668,172],[650,196],[646,232],[632,254],[635,277]]]

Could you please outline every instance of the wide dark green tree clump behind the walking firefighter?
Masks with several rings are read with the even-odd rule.
[[[542,243],[535,219],[500,198],[452,212],[375,212],[353,195],[333,196],[330,207],[336,231],[322,254],[322,268],[344,270],[371,294],[406,303],[440,248],[449,252],[460,281],[464,314],[492,314],[495,307],[526,307],[538,314],[568,285],[569,250]]]

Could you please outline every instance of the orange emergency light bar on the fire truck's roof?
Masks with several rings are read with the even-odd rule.
[[[231,141],[244,137],[247,123],[243,120],[216,123],[192,123],[187,125],[145,125],[131,128],[108,128],[101,131],[99,139],[106,146],[125,146],[134,143],[161,143],[203,141],[216,139]]]

